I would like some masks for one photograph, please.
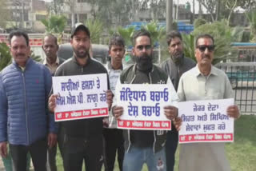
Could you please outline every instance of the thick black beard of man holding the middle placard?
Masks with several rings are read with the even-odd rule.
[[[134,56],[134,60],[137,64],[137,69],[142,71],[148,71],[152,69],[152,55],[143,54],[143,56]]]

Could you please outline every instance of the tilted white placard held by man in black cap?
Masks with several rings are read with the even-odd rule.
[[[55,121],[108,116],[106,74],[54,77],[53,90]]]

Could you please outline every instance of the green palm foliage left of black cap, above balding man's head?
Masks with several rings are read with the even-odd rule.
[[[63,15],[51,15],[42,19],[42,24],[46,26],[46,33],[62,34],[66,26],[66,17]]]

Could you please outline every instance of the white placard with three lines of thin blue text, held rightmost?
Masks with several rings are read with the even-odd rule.
[[[229,105],[234,105],[233,98],[179,102],[179,143],[234,141],[234,118],[226,114]]]

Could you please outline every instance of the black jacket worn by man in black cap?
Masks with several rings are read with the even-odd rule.
[[[55,76],[71,76],[85,74],[107,74],[107,71],[101,63],[89,58],[86,66],[80,66],[76,58],[72,57],[56,70]],[[108,88],[109,88],[108,83]],[[62,129],[68,137],[77,137],[89,140],[102,134],[102,117],[62,121]]]

